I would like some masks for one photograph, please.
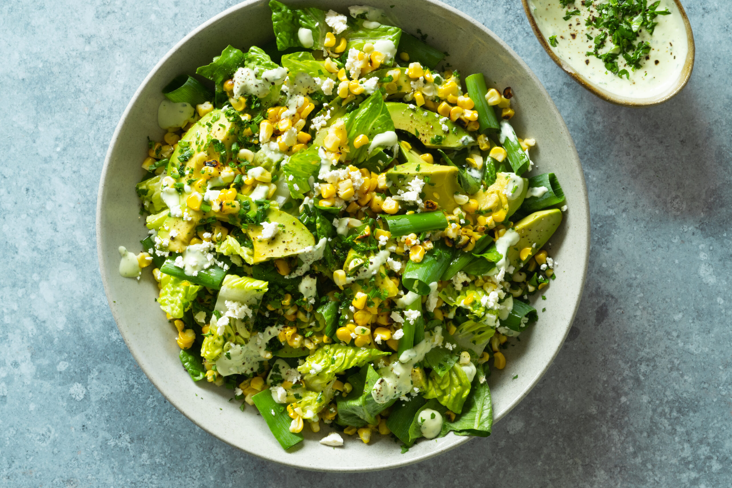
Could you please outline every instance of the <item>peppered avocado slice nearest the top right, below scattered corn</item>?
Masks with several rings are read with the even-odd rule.
[[[441,122],[443,117],[425,108],[409,108],[409,105],[401,102],[386,102],[386,108],[392,116],[394,127],[416,135],[425,147],[462,149],[475,142],[466,129],[449,119],[444,121],[447,126],[445,132]]]

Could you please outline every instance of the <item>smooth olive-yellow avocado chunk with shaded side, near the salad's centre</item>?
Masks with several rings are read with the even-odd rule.
[[[411,153],[407,152],[407,154]],[[417,162],[413,160],[414,154],[409,156],[409,162],[396,165],[386,171],[386,179],[392,181],[392,195],[395,195],[398,189],[406,189],[407,184],[416,176],[423,180],[429,177],[429,183],[425,183],[425,186],[422,187],[425,198],[435,201],[444,211],[452,212],[455,210],[455,207],[458,206],[458,203],[455,203],[455,193],[462,192],[458,184],[458,168],[455,168],[455,166],[430,165],[430,163],[422,161],[419,157],[416,158],[419,160]]]

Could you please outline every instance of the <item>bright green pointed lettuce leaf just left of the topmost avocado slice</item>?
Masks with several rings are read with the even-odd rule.
[[[394,131],[394,122],[392,116],[389,115],[389,109],[386,108],[384,98],[381,91],[374,91],[370,97],[364,100],[357,110],[349,113],[344,117],[346,123],[346,133],[348,134],[349,157],[355,166],[364,162],[373,154],[369,154],[368,148],[370,144],[364,144],[356,149],[353,141],[359,135],[365,134],[369,140],[382,132]],[[374,149],[376,151],[376,149]]]

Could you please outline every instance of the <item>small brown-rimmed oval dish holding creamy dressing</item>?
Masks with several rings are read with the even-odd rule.
[[[689,81],[694,68],[694,34],[679,0],[660,2],[657,10],[668,10],[670,14],[657,15],[654,19],[651,15],[650,21],[657,23],[651,25],[654,28],[651,35],[644,31],[645,26],[635,26],[638,37],[633,37],[632,42],[638,40],[637,45],[640,45],[646,40],[650,49],[638,53],[641,55],[638,57],[640,68],[635,71],[622,56],[617,56],[619,66],[615,70],[625,70],[627,75],[624,78],[609,72],[605,61],[591,53],[587,56],[594,50],[595,40],[603,36],[597,34],[597,29],[591,29],[597,34],[593,39],[586,30],[588,13],[597,13],[597,10],[591,10],[594,4],[586,7],[570,1],[562,7],[559,0],[521,0],[521,3],[534,35],[549,57],[577,83],[602,100],[626,107],[659,105],[678,94]],[[651,7],[654,3],[658,2],[649,2]],[[593,15],[592,18],[597,17]],[[640,15],[631,22],[635,20],[640,20]],[[626,33],[632,35],[630,31]],[[612,45],[610,36],[605,44]],[[617,52],[617,46],[615,48],[613,51],[601,47],[596,52],[601,55],[613,53]]]

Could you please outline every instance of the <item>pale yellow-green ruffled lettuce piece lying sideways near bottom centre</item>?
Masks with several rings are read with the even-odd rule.
[[[326,344],[307,356],[305,363],[297,367],[297,370],[303,374],[302,379],[307,389],[323,391],[335,379],[337,372],[346,371],[354,366],[362,366],[367,361],[387,354],[390,353],[378,349]]]

